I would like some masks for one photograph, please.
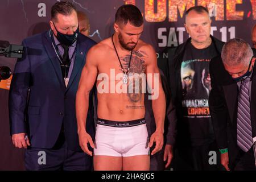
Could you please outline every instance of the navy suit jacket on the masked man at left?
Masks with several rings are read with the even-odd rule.
[[[80,151],[76,92],[86,53],[96,42],[79,34],[76,57],[66,88],[49,31],[23,40],[24,53],[15,65],[9,94],[10,134],[27,133],[31,147],[52,148],[64,122],[68,147]],[[94,137],[92,94],[86,131]]]

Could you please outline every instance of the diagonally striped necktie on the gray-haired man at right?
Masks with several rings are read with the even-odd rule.
[[[241,82],[237,112],[237,145],[245,152],[247,152],[253,145],[249,84],[246,84],[249,81],[250,78],[247,78]]]

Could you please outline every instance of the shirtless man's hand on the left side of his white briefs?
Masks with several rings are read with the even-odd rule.
[[[79,134],[79,145],[86,154],[92,156],[92,151],[88,149],[87,143],[90,144],[90,147],[94,148],[94,143],[92,137],[85,131],[78,133]]]

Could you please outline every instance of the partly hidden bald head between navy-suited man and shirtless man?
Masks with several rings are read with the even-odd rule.
[[[79,20],[79,31],[81,34],[85,36],[89,36],[90,34],[90,22],[88,16],[82,12],[77,11],[77,18]]]

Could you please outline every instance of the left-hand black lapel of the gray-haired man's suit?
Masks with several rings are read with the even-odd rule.
[[[238,86],[236,82],[233,82],[229,85],[223,86],[224,95],[226,99],[226,104],[229,110],[229,116],[231,122],[235,121],[234,114],[237,108],[237,95],[238,95]]]

